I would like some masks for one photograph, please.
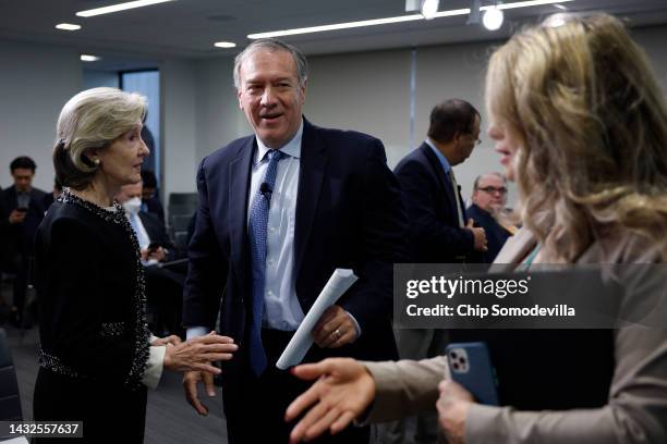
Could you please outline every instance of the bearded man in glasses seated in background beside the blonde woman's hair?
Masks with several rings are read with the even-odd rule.
[[[505,176],[500,173],[486,173],[477,176],[473,184],[472,201],[466,213],[475,225],[484,229],[488,248],[483,254],[483,262],[492,263],[507,238],[517,231],[517,227],[502,221],[507,202]]]

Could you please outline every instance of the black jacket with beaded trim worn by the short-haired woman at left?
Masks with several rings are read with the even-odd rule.
[[[149,338],[144,275],[121,207],[102,209],[65,190],[37,230],[35,272],[40,366],[141,387]]]

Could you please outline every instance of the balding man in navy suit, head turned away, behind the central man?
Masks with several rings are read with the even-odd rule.
[[[447,100],[430,112],[428,137],[395,169],[411,221],[409,239],[414,263],[476,262],[486,249],[484,229],[465,214],[452,166],[472,153],[480,137],[480,113],[463,100]],[[401,329],[396,332],[401,359],[441,355],[442,330]],[[404,422],[383,428],[383,442],[405,442]],[[414,442],[437,441],[437,417],[417,418]],[[412,437],[408,439],[412,442]]]

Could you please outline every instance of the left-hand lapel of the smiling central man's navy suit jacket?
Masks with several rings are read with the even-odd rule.
[[[229,214],[231,257],[232,261],[241,264],[245,245],[247,243],[247,194],[250,193],[250,177],[255,152],[255,137],[248,137],[239,150],[239,156],[229,163]],[[243,267],[237,267],[242,271]]]

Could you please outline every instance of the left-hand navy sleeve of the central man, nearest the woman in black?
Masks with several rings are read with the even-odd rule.
[[[218,317],[221,288],[227,281],[228,263],[220,251],[210,218],[205,164],[206,159],[197,172],[199,208],[187,246],[190,261],[183,295],[183,325],[213,329]]]

